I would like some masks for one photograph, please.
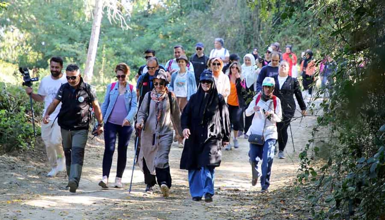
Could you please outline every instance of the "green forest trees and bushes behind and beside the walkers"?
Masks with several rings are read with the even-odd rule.
[[[132,72],[152,48],[164,63],[172,46],[188,56],[194,45],[213,48],[215,37],[240,56],[275,41],[292,44],[297,55],[313,49],[316,63],[330,54],[338,64],[331,96],[317,89],[308,111],[329,131],[304,143],[298,186],[312,184],[308,195],[314,219],[385,219],[385,2],[377,0],[163,0],[129,1],[124,12],[131,29],[102,20],[94,68],[99,94],[113,79],[113,67],[127,62]],[[84,68],[92,26],[93,1],[13,0],[0,4],[0,147],[33,147],[28,97],[15,75],[19,65],[48,74],[48,60],[60,55],[65,65]],[[128,16],[131,15],[131,16]],[[131,79],[134,74],[131,75]],[[317,72],[315,77],[320,77]],[[37,87],[38,84],[34,86]],[[98,94],[98,95],[99,95]],[[321,99],[322,98],[322,99]],[[322,100],[316,105],[313,100]],[[37,115],[41,104],[35,104]],[[318,142],[317,142],[318,143]],[[323,155],[320,155],[320,152]],[[318,163],[323,161],[323,163]]]

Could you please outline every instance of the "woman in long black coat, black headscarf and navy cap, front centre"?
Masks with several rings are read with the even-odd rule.
[[[198,92],[190,97],[181,116],[186,138],[180,168],[188,170],[192,200],[212,202],[214,168],[221,164],[221,147],[230,139],[229,112],[218,94],[211,72],[202,72]]]

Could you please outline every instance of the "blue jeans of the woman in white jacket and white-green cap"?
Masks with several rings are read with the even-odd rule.
[[[268,139],[262,146],[250,143],[249,160],[261,178],[262,190],[270,185],[271,166],[273,165],[276,139]]]

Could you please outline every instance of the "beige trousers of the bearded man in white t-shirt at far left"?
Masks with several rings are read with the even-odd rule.
[[[50,120],[48,124],[42,123],[42,139],[45,144],[45,150],[47,151],[48,163],[54,168],[57,166],[58,158],[65,160],[62,134],[60,132],[60,126],[57,124],[57,119],[55,121]]]

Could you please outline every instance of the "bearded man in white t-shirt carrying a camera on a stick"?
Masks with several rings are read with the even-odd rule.
[[[67,82],[65,74],[62,73],[63,59],[61,57],[52,57],[50,59],[50,76],[45,76],[40,82],[39,89],[36,93],[33,93],[31,87],[27,87],[25,92],[32,95],[32,99],[37,102],[44,101],[44,111],[47,111],[47,107],[54,100],[57,91],[60,86]],[[50,122],[48,124],[42,123],[42,139],[47,151],[48,163],[51,166],[51,171],[47,176],[56,176],[58,172],[65,171],[65,157],[62,147],[62,136],[60,133],[60,127],[57,124],[56,116],[59,114],[60,106],[56,108],[54,113],[50,115]]]

